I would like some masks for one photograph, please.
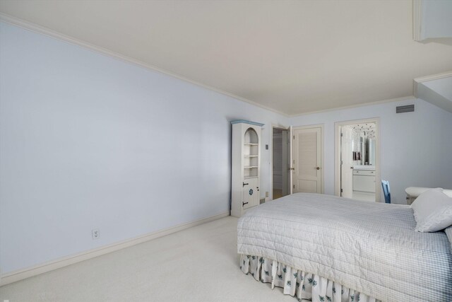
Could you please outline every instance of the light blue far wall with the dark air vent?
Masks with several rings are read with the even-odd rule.
[[[396,107],[415,104],[415,112]],[[335,122],[380,119],[381,178],[389,180],[391,202],[406,204],[406,187],[452,187],[452,114],[424,100],[404,100],[299,115],[294,126],[324,124],[325,193],[334,194]],[[380,189],[381,190],[381,189]],[[381,192],[381,200],[383,192]]]

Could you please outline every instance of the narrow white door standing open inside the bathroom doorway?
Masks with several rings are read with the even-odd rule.
[[[340,196],[352,198],[353,194],[353,129],[340,129]]]

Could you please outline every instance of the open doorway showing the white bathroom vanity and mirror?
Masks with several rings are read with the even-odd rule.
[[[336,123],[336,194],[379,201],[379,120]]]

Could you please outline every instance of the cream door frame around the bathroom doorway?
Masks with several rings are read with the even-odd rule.
[[[380,134],[380,118],[371,117],[369,119],[363,120],[347,120],[343,122],[334,123],[334,194],[340,196],[340,127],[349,124],[364,124],[364,123],[375,123],[375,134],[376,134],[376,146],[375,146],[375,201],[380,201],[380,187],[381,187],[381,171],[380,171],[380,145],[381,145],[381,134]]]

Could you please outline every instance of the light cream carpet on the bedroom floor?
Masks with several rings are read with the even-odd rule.
[[[0,287],[0,301],[297,301],[239,269],[225,217]]]

